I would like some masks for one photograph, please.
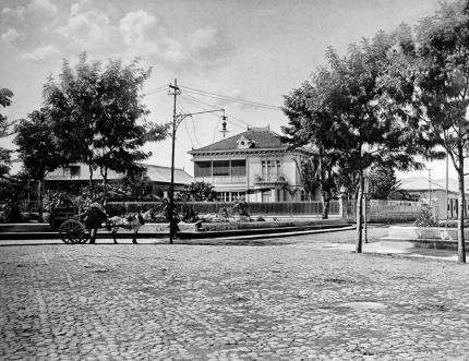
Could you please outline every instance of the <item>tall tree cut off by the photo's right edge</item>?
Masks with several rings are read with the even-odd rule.
[[[469,146],[469,4],[443,3],[416,33],[401,26],[387,82],[396,108],[418,129],[426,157],[445,154],[458,173],[458,261],[466,263],[465,158]],[[444,149],[445,152],[441,152]]]

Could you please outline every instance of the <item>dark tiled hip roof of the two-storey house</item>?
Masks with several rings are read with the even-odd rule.
[[[254,148],[262,149],[286,149],[287,144],[281,143],[280,135],[269,130],[249,130],[243,133],[227,137],[205,147],[193,149],[190,154],[199,152],[234,151],[238,149],[237,141],[244,136],[255,143]]]

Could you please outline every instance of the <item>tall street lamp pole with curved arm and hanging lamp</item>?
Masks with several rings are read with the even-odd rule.
[[[214,109],[214,110],[206,110],[206,111],[197,111],[197,112],[191,112],[191,113],[176,113],[176,98],[178,95],[181,94],[181,91],[178,86],[178,80],[175,79],[175,85],[169,84],[169,87],[173,89],[173,93],[170,93],[170,95],[175,96],[175,103],[172,108],[172,144],[171,144],[171,183],[169,185],[169,244],[172,244],[172,241],[176,236],[176,224],[175,224],[175,144],[176,144],[176,131],[178,130],[179,124],[188,118],[196,115],[204,115],[208,112],[217,112],[223,111],[223,120],[224,120],[224,128],[223,131],[224,134],[227,132],[226,130],[226,120],[227,117],[225,116],[225,109]]]

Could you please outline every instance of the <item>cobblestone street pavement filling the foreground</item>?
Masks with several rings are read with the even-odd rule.
[[[352,237],[1,248],[0,359],[469,360],[469,266]]]

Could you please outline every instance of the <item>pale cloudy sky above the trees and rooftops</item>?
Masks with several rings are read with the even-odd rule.
[[[282,95],[299,87],[325,62],[333,46],[345,55],[351,43],[417,24],[432,15],[440,0],[0,0],[0,88],[13,91],[1,111],[9,120],[41,107],[41,88],[60,73],[63,59],[76,64],[140,59],[152,68],[143,93],[157,123],[172,120],[168,85],[181,85],[178,112],[226,109],[226,136],[251,127],[280,133],[287,125]],[[187,88],[184,88],[187,87]],[[190,89],[192,88],[192,89]],[[197,91],[274,107],[225,101]],[[177,131],[176,167],[193,173],[188,151],[223,140],[220,112],[185,118]],[[13,149],[12,137],[0,146]],[[171,140],[145,146],[147,163],[170,166]],[[13,168],[13,171],[19,166]],[[444,161],[429,165],[432,178]],[[402,178],[428,171],[399,173]],[[450,167],[450,177],[455,177]]]

